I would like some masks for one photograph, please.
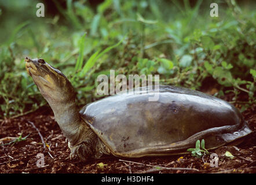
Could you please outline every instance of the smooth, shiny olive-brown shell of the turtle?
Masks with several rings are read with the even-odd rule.
[[[222,99],[188,88],[160,86],[101,99],[83,107],[81,117],[122,157],[184,153],[204,139],[214,149],[251,133],[239,110]]]

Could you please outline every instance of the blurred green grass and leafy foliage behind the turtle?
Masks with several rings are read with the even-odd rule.
[[[36,4],[45,17],[36,17]],[[218,17],[210,4],[218,4]],[[237,4],[238,3],[238,4]],[[255,103],[255,1],[0,0],[0,119],[46,104],[25,71],[41,57],[71,79],[78,104],[99,99],[97,76],[159,74],[241,110]]]

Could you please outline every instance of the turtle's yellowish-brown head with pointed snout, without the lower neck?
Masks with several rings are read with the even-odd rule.
[[[74,88],[61,71],[53,68],[42,58],[30,59],[26,57],[25,62],[28,75],[32,77],[39,91],[50,105],[74,101]]]

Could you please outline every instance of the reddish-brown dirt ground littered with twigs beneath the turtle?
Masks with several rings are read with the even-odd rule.
[[[67,140],[54,120],[52,110],[46,106],[36,112],[6,119],[0,123],[0,139],[5,138],[0,142],[0,173],[256,173],[255,112],[256,105],[243,112],[254,132],[246,136],[240,145],[211,150],[211,153],[216,153],[219,157],[218,167],[211,167],[209,155],[196,158],[191,154],[143,158],[104,156],[87,162],[71,160]],[[36,129],[46,143],[45,149]],[[10,143],[21,134],[22,138],[30,135],[25,140]],[[225,157],[226,151],[232,153],[235,158]],[[36,158],[36,155],[39,153],[45,157],[45,166],[41,168],[36,166],[40,159]]]

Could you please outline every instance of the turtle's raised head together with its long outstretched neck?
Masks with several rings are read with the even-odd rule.
[[[61,71],[41,58],[26,57],[25,62],[28,75],[32,77],[43,98],[52,108],[63,134],[71,146],[77,145],[81,142],[81,135],[87,136],[83,133],[89,128],[83,126],[84,129],[79,131],[83,122],[75,105],[75,90],[70,81]]]

